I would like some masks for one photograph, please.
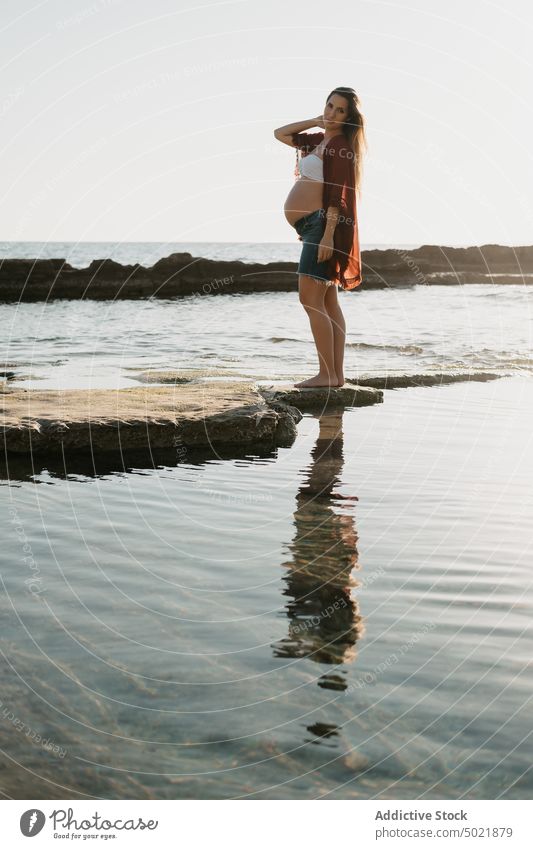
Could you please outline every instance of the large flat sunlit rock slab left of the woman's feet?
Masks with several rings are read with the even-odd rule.
[[[270,406],[255,383],[128,389],[0,388],[7,451],[290,445],[301,414]]]

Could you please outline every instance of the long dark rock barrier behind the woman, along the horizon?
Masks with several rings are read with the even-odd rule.
[[[533,283],[533,246],[482,245],[363,251],[363,283],[355,289],[463,283]],[[174,253],[146,268],[93,260],[74,268],[64,259],[4,259],[0,301],[54,298],[115,300],[289,292],[297,288],[295,262],[245,263]]]

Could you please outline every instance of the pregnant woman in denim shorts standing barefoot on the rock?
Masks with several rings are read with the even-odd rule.
[[[306,133],[311,127],[324,132]],[[361,283],[356,192],[366,146],[359,98],[352,88],[334,89],[324,114],[274,130],[296,148],[298,179],[285,201],[285,217],[303,242],[298,292],[318,354],[319,371],[297,387],[342,386],[346,324],[337,288]],[[298,160],[298,151],[306,154]]]

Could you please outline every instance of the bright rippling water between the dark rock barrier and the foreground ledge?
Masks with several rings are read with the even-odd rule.
[[[316,371],[295,291],[174,300],[4,304],[0,362],[27,388],[127,387],[145,370],[292,380]],[[346,375],[533,372],[533,300],[523,285],[340,293]],[[228,334],[228,328],[231,332]],[[2,366],[0,366],[0,369]]]

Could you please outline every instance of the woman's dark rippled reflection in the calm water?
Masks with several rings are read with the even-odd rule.
[[[317,663],[349,663],[364,626],[351,591],[359,585],[353,502],[334,493],[343,468],[342,416],[317,416],[319,436],[294,513],[296,533],[289,550],[283,594],[290,598],[288,636],[273,645],[276,657],[308,657]],[[346,689],[344,674],[330,672],[319,686]]]

